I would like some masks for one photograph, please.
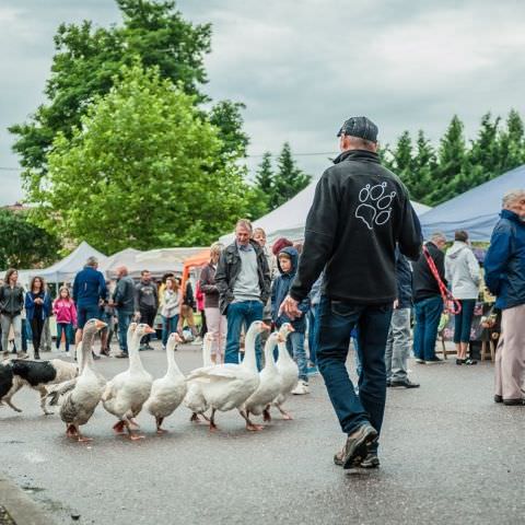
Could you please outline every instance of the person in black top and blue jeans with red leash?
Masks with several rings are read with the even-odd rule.
[[[438,273],[446,285],[445,255],[443,249],[446,237],[442,233],[434,233],[425,244],[430,256],[434,260]],[[443,299],[440,287],[433,276],[423,254],[413,264],[413,312],[416,327],[413,329],[413,355],[418,363],[442,363],[435,355],[435,339],[443,313]]]

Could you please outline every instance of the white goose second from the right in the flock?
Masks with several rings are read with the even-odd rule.
[[[259,386],[246,399],[244,409],[249,421],[249,415],[260,416],[264,413],[265,421],[269,421],[270,413],[268,406],[279,395],[281,390],[281,376],[273,361],[273,349],[282,336],[275,331],[270,334],[265,345],[265,368],[259,373]],[[260,425],[255,425],[260,427]],[[262,429],[264,427],[260,427]]]

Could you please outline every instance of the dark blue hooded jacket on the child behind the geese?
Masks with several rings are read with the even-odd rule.
[[[277,268],[280,276],[273,281],[271,287],[271,320],[279,328],[283,323],[291,323],[295,331],[304,332],[306,330],[306,318],[305,314],[310,310],[310,299],[301,301],[299,304],[299,310],[303,315],[294,320],[290,319],[284,314],[279,315],[279,307],[281,306],[282,301],[290,292],[290,287],[292,285],[293,279],[298,271],[299,262],[299,253],[295,248],[287,247],[279,252],[280,254],[288,254],[292,260],[292,267],[289,272],[282,271],[281,262],[279,257],[277,258]]]

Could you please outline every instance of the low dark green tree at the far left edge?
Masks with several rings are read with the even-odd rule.
[[[0,268],[47,266],[59,249],[59,240],[32,224],[26,212],[0,209]]]

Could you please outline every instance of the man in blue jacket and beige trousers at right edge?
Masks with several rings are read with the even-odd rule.
[[[494,226],[485,257],[487,287],[502,311],[495,352],[495,402],[524,405],[525,372],[525,189],[503,197],[501,219]]]

